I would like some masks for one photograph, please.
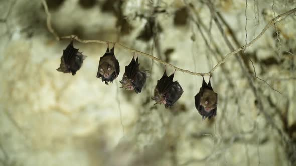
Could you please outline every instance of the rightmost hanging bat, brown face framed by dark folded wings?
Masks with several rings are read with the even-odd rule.
[[[211,77],[209,83],[205,82],[203,77],[203,84],[199,92],[194,97],[195,107],[203,119],[215,117],[217,113],[218,95],[214,92],[211,86]]]

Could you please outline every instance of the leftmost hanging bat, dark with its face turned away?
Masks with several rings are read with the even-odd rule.
[[[63,73],[72,73],[75,75],[76,72],[81,68],[83,64],[83,60],[87,56],[84,56],[82,52],[78,52],[79,49],[75,49],[73,47],[73,40],[67,46],[66,49],[63,50],[63,55],[61,57],[60,67],[57,69],[59,72]]]

